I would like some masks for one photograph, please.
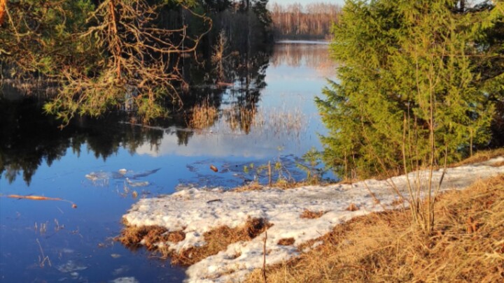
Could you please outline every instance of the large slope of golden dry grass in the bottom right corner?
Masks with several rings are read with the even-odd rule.
[[[442,195],[435,213],[433,235],[409,210],[352,219],[267,268],[268,282],[504,282],[504,175]],[[247,282],[261,280],[255,270]]]

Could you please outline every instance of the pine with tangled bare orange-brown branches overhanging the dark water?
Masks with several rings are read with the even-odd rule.
[[[211,27],[188,34],[187,24],[166,23],[169,7],[194,6],[193,0],[106,0],[8,2],[0,29],[6,73],[16,78],[52,80],[59,92],[45,105],[64,124],[75,115],[99,116],[130,103],[143,122],[167,115],[165,99],[179,101],[183,85],[178,57],[195,54]],[[183,13],[183,12],[182,12]],[[4,70],[1,70],[2,72]],[[134,95],[127,89],[134,87]]]

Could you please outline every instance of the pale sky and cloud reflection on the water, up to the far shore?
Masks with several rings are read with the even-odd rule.
[[[264,159],[279,154],[301,156],[311,147],[321,149],[317,133],[326,131],[318,116],[314,98],[321,96],[325,78],[320,68],[314,65],[329,60],[327,48],[327,45],[277,45],[272,58],[275,64],[266,70],[267,87],[261,91],[258,112],[262,117],[268,117],[272,112],[300,111],[305,126],[299,135],[274,133],[254,126],[248,134],[232,132],[220,119],[211,129],[196,132],[188,145],[179,146],[173,133],[165,133],[159,147],[142,145],[137,153],[154,157],[178,155]],[[296,59],[292,61],[290,57]],[[322,68],[334,70],[334,65],[328,64]]]

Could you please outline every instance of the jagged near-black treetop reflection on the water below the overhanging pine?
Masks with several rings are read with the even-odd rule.
[[[22,172],[28,185],[43,161],[51,166],[69,148],[78,155],[87,143],[95,157],[105,160],[120,147],[133,153],[144,143],[158,145],[162,138],[162,131],[120,124],[118,115],[76,119],[59,130],[59,123],[43,114],[41,101],[29,97],[8,100],[0,96],[0,120],[0,177],[14,182]]]

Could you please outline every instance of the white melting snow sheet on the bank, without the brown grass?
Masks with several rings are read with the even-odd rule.
[[[463,189],[478,179],[504,173],[504,166],[491,164],[504,161],[504,157],[491,159],[480,164],[448,168],[444,176],[442,191]],[[434,172],[438,180],[442,170]],[[417,176],[426,179],[428,171],[409,173],[409,180]],[[365,180],[353,184],[309,186],[296,189],[262,189],[258,191],[234,192],[222,189],[190,188],[169,196],[141,199],[124,215],[130,225],[160,225],[169,231],[184,231],[186,239],[181,242],[166,242],[172,249],[180,251],[191,246],[204,245],[203,233],[218,226],[236,227],[246,222],[247,217],[262,217],[273,224],[267,230],[266,262],[279,263],[299,251],[297,245],[328,233],[342,222],[358,215],[393,208],[391,203],[397,196],[391,184],[405,192],[405,175],[388,180]],[[379,199],[376,204],[370,191]],[[406,195],[406,193],[405,193]],[[348,211],[351,203],[359,210]],[[327,211],[318,219],[302,219],[303,210]],[[294,238],[293,245],[277,245],[282,238]],[[254,268],[262,267],[264,233],[248,242],[237,242],[214,256],[195,263],[187,270],[187,282],[238,282]],[[316,244],[318,245],[318,244]],[[241,254],[235,258],[236,254]]]

